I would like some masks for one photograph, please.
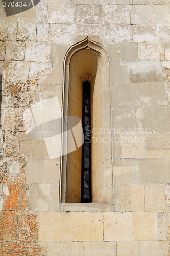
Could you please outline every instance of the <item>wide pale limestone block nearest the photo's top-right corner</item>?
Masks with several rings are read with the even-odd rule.
[[[169,24],[168,5],[132,5],[131,24]]]

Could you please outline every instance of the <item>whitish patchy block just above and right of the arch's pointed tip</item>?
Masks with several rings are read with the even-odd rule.
[[[101,27],[101,37],[105,44],[132,41],[132,25],[111,25]]]

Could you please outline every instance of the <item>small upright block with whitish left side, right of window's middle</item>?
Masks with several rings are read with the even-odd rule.
[[[152,106],[136,108],[136,126],[140,133],[154,132],[154,108]]]

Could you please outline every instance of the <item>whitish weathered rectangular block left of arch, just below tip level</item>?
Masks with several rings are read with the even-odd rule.
[[[50,53],[51,45],[47,45],[44,42],[27,42],[25,60],[34,62],[49,62]]]

